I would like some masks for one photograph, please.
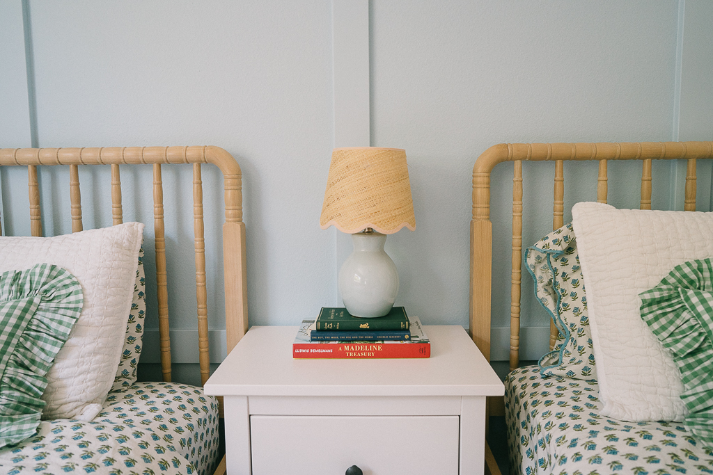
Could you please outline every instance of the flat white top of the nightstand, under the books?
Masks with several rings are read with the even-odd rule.
[[[429,326],[431,357],[294,359],[296,326],[254,326],[205,383],[225,396],[501,396],[463,327]]]

